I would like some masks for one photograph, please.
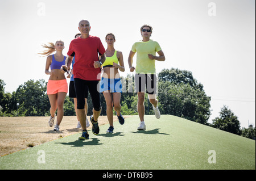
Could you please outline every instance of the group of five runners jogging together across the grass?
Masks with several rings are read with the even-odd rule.
[[[88,92],[92,98],[93,115],[90,116],[92,132],[97,135],[100,132],[98,127],[98,117],[101,113],[100,92],[104,94],[106,101],[106,113],[110,127],[108,133],[113,133],[113,108],[118,117],[119,123],[124,124],[125,119],[121,114],[121,92],[122,83],[118,69],[125,71],[122,52],[115,50],[115,36],[108,33],[105,41],[108,47],[105,49],[99,37],[89,35],[90,23],[88,20],[79,22],[79,31],[69,45],[68,57],[63,55],[64,42],[56,41],[55,44],[44,44],[47,48],[43,55],[47,55],[45,73],[50,75],[47,83],[47,94],[51,104],[51,117],[49,126],[54,125],[55,112],[57,110],[57,122],[54,131],[59,131],[59,125],[63,119],[63,104],[68,92],[68,84],[64,73],[68,73],[71,78],[69,85],[69,97],[74,98],[75,111],[77,115],[77,128],[82,128],[82,135],[79,140],[89,139],[86,128],[89,127],[87,119],[87,98]],[[128,64],[130,71],[135,70],[135,91],[138,94],[137,110],[141,123],[138,130],[145,130],[144,124],[144,92],[152,104],[155,116],[160,118],[158,100],[156,99],[156,73],[155,60],[164,61],[164,53],[160,45],[150,39],[152,27],[144,24],[141,27],[142,40],[133,44],[131,48]],[[55,54],[52,54],[55,52]],[[159,56],[156,56],[156,52]],[[136,68],[133,66],[133,57],[137,53]],[[70,68],[72,64],[72,69]],[[49,71],[51,68],[51,71]],[[102,76],[101,69],[103,69]],[[98,83],[100,81],[100,87]]]

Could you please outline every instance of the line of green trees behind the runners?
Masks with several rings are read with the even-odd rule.
[[[122,115],[138,115],[138,96],[134,91],[134,77],[128,74],[121,79],[123,86]],[[158,74],[157,90],[158,107],[162,115],[183,117],[196,123],[255,139],[255,127],[241,129],[238,117],[227,106],[221,108],[220,116],[212,120],[212,124],[208,123],[211,97],[205,94],[204,86],[193,78],[191,71],[174,68],[163,69]],[[101,115],[106,115],[103,94],[100,94],[100,99]],[[154,114],[147,95],[144,105],[146,115]],[[0,116],[49,116],[50,107],[47,82],[44,79],[38,81],[31,79],[24,82],[12,93],[5,92],[5,82],[0,79]],[[64,102],[64,116],[75,116],[75,114],[73,98],[67,96]],[[92,115],[90,95],[88,95],[88,115]]]

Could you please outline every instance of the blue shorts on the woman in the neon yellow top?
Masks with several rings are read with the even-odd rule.
[[[122,82],[120,78],[101,78],[100,92],[109,90],[109,92],[122,92]]]

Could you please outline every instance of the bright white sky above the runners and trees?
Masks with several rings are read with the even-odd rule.
[[[216,16],[209,12],[216,5]],[[192,71],[212,97],[212,116],[226,105],[240,120],[255,126],[255,0],[0,0],[0,79],[5,91],[16,91],[29,79],[45,79],[42,43],[63,40],[64,54],[88,19],[90,35],[114,33],[115,49],[123,53],[126,71],[131,46],[141,40],[139,28],[151,24],[152,39],[166,56],[156,71],[178,68]],[[69,82],[69,81],[68,81]]]

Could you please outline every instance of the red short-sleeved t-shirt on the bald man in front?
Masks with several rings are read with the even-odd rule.
[[[96,36],[89,36],[86,39],[78,37],[71,41],[68,50],[68,56],[76,55],[73,65],[74,78],[80,78],[86,81],[100,81],[101,70],[95,69],[94,61],[98,61],[98,53],[104,54],[105,48],[101,40]],[[97,78],[98,75],[98,78]]]

